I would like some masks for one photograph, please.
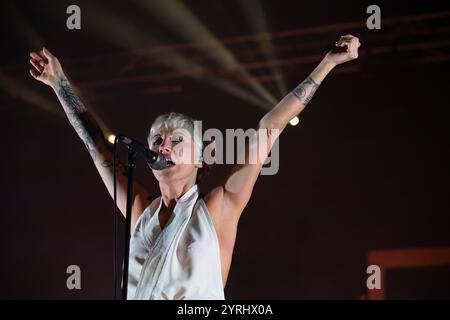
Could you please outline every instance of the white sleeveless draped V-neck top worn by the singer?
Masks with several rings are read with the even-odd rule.
[[[198,186],[175,205],[164,229],[158,208],[148,206],[130,241],[128,299],[215,299],[224,291],[220,249]]]

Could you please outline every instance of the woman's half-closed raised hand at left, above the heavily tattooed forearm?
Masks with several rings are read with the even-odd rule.
[[[30,74],[53,89],[60,79],[64,77],[61,64],[58,59],[47,49],[43,48],[39,52],[31,52],[30,63],[34,69],[30,69]]]

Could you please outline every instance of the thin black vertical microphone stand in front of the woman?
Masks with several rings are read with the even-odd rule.
[[[128,267],[130,260],[130,233],[131,233],[131,209],[133,206],[133,172],[136,167],[136,151],[128,149],[128,188],[127,188],[127,212],[125,217],[125,256],[123,262],[122,300],[127,300],[128,292]]]

